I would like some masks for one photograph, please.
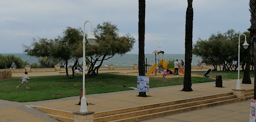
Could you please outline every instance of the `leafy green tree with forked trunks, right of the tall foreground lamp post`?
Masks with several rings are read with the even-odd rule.
[[[96,45],[86,43],[85,58],[90,63],[86,76],[98,75],[98,69],[104,60],[113,57],[115,54],[123,55],[129,52],[135,42],[135,39],[129,34],[119,36],[117,25],[111,24],[111,22],[98,24],[95,28],[95,37],[97,38]],[[100,64],[95,67],[97,62]]]

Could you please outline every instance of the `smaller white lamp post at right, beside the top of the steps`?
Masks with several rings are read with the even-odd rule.
[[[237,88],[236,89],[241,89],[241,83],[239,80],[239,75],[240,75],[240,36],[244,35],[244,48],[247,49],[249,44],[246,42],[246,35],[245,34],[240,34],[239,35],[239,42],[238,42],[238,80],[237,80]]]

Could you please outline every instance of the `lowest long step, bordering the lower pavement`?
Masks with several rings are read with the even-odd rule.
[[[202,109],[202,108],[207,108],[207,107],[235,103],[238,101],[240,101],[239,98],[234,98],[234,99],[230,99],[230,100],[223,100],[223,101],[195,105],[195,106],[184,107],[184,108],[178,108],[178,109],[173,109],[173,110],[168,110],[168,111],[160,111],[160,112],[156,112],[156,113],[132,116],[132,117],[127,117],[127,118],[112,120],[112,122],[142,121],[142,120],[146,120],[146,119],[150,119],[150,118],[156,118],[156,117],[167,116],[167,115],[172,115],[172,114],[176,114],[176,113],[187,112],[187,111],[192,111],[192,110],[197,110],[197,109]]]

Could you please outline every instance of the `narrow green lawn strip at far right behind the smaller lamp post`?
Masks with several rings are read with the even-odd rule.
[[[201,73],[206,73],[203,71],[200,71]],[[222,78],[228,78],[228,79],[237,79],[238,78],[238,71],[211,71],[208,75],[210,76],[217,76],[221,75]],[[239,78],[244,77],[244,71],[240,71]],[[253,71],[250,71],[250,77],[254,77]]]

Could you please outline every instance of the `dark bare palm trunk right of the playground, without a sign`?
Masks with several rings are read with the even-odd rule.
[[[185,25],[185,75],[183,81],[184,92],[193,91],[191,86],[191,63],[192,63],[192,38],[193,38],[193,0],[188,0],[188,8],[186,12],[186,25]]]

